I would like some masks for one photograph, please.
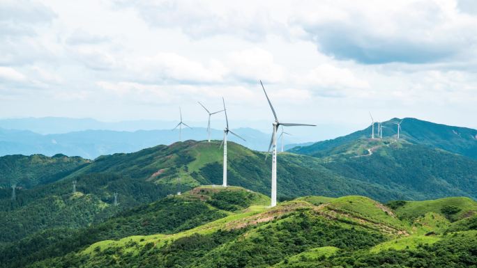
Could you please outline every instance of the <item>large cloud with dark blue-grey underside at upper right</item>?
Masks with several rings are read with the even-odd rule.
[[[295,17],[321,52],[360,63],[427,63],[474,49],[474,17],[458,13],[452,1],[359,2],[335,5],[336,18]],[[369,2],[370,3],[370,2]]]

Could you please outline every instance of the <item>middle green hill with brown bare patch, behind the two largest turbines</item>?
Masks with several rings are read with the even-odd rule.
[[[100,157],[88,166],[69,175],[87,173],[121,173],[133,179],[147,180],[160,185],[177,187],[179,178],[184,189],[201,184],[222,184],[222,150],[213,141],[185,141],[169,146],[159,145],[131,154]],[[249,150],[236,143],[229,143],[227,157],[228,182],[269,194],[271,185],[271,157]],[[318,159],[288,153],[278,155],[278,196],[289,198],[300,195],[320,194],[342,196],[346,194],[369,195],[379,200],[404,198],[393,189],[379,184],[359,182],[329,171]],[[387,198],[387,199],[386,199]]]

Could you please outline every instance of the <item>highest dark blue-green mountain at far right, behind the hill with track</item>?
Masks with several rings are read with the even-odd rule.
[[[453,127],[430,123],[416,118],[393,118],[383,123],[384,137],[393,137],[397,135],[398,129],[394,123],[402,120],[402,131],[400,137],[409,143],[428,145],[434,148],[440,148],[448,152],[454,152],[460,155],[477,159],[477,130],[466,127]],[[315,157],[324,157],[328,151],[341,145],[353,143],[358,139],[370,139],[371,127],[342,136],[328,141],[319,141],[312,145],[292,148],[290,152]],[[377,132],[377,125],[375,125]]]

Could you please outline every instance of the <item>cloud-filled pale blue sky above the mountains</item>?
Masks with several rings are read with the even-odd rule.
[[[0,1],[0,118],[477,128],[474,1]]]

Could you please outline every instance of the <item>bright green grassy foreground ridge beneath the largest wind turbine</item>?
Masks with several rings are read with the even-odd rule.
[[[469,198],[384,205],[363,196],[306,196],[270,208],[262,205],[268,203],[268,198],[260,194],[237,187],[209,186],[158,203],[178,202],[181,198],[208,205],[220,200],[238,207],[222,212],[218,219],[210,218],[191,225],[187,230],[172,228],[151,234],[137,226],[139,231],[134,235],[81,246],[59,257],[31,260],[22,267],[477,265],[477,259],[472,257],[475,256],[477,231],[471,228],[452,231],[453,226],[462,226],[463,221],[476,217],[477,203]],[[248,201],[243,203],[243,200]],[[180,207],[187,203],[175,204]],[[419,209],[414,210],[416,207]],[[142,211],[149,209],[138,208],[126,215],[139,213],[144,216],[147,213]],[[409,210],[414,214],[409,215]],[[180,211],[174,209],[174,213]],[[156,213],[158,219],[167,216],[163,210]],[[200,215],[204,214],[195,216],[200,219]]]

